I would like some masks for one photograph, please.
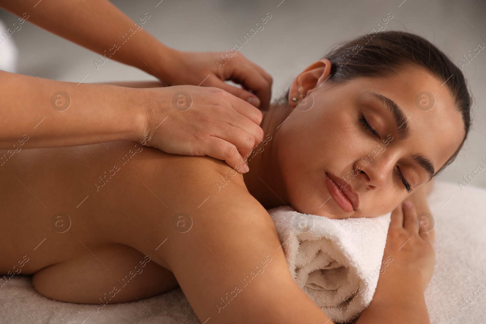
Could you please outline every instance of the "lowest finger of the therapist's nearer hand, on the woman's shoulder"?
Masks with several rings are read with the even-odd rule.
[[[208,138],[204,154],[224,160],[227,165],[237,172],[245,173],[249,170],[236,146],[219,137],[210,136]]]

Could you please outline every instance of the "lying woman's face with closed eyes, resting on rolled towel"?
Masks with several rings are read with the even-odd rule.
[[[297,211],[336,219],[386,214],[459,147],[464,125],[446,86],[422,68],[398,73],[342,85],[319,86],[326,72],[312,85],[309,76],[294,80],[291,94],[310,90],[274,145]]]

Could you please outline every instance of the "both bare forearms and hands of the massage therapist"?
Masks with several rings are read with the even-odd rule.
[[[132,96],[131,91],[120,87],[76,85],[0,71],[4,86],[0,98],[0,147],[10,149],[9,154],[19,149],[12,143],[25,142],[22,134],[30,138],[23,148],[139,140],[137,136],[149,134],[153,137],[148,145],[170,153],[207,154],[224,159],[231,167],[239,166],[240,170],[244,162],[238,152],[251,152],[262,139],[258,126],[261,114],[255,107],[268,107],[272,78],[240,53],[171,49],[145,29],[156,19],[150,13],[140,13],[134,22],[108,0],[50,0],[36,7],[31,0],[0,0],[0,6],[22,17],[20,24],[28,19],[100,54],[93,60],[93,71],[105,69],[105,61],[110,59],[140,68],[166,85],[201,85],[187,91],[193,97],[193,108],[186,112],[171,108],[164,115],[162,106],[167,102],[170,105],[172,97],[160,101],[159,94],[140,106],[140,96]],[[35,14],[29,15],[26,11],[30,13],[33,6]],[[96,15],[91,8],[96,8]],[[123,39],[120,35],[124,35]],[[228,85],[225,80],[232,80],[243,89]],[[142,116],[143,111],[148,114]],[[147,124],[147,133],[140,134],[139,125],[147,116],[156,124]],[[157,128],[165,117],[165,124]],[[163,128],[165,132],[161,131]]]

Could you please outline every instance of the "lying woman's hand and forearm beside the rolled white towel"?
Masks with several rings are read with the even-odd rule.
[[[423,291],[434,272],[435,252],[430,233],[418,231],[415,205],[408,204],[392,212],[378,285],[356,324],[430,324]]]

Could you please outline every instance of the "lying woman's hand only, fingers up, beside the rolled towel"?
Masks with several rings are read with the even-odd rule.
[[[421,284],[424,291],[434,273],[434,239],[431,232],[418,230],[416,219],[417,210],[411,201],[393,210],[383,252],[384,256],[392,256],[393,262],[389,263],[380,278],[389,276],[399,281],[411,272],[417,273],[417,279],[421,279],[417,284]]]

